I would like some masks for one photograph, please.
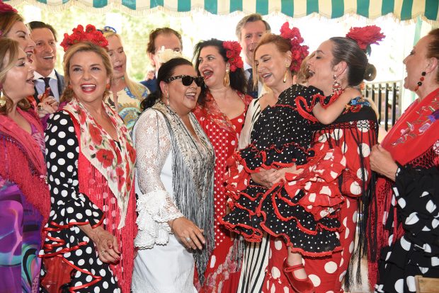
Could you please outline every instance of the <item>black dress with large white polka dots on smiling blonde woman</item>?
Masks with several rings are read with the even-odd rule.
[[[79,142],[68,113],[50,117],[45,142],[52,210],[40,254],[45,258],[57,255],[73,268],[71,280],[64,286],[70,292],[120,292],[109,265],[99,260],[93,241],[78,226],[102,224],[103,211],[79,193]],[[46,273],[43,266],[42,278]]]

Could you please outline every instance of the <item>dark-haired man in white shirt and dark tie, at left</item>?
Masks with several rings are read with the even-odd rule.
[[[53,96],[59,102],[64,91],[64,76],[55,70],[57,61],[57,32],[52,25],[42,21],[31,21],[28,23],[31,33],[30,38],[35,42],[34,50],[34,98],[40,103],[38,95],[50,87],[49,96]]]

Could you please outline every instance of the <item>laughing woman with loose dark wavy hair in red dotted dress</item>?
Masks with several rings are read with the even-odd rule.
[[[226,214],[224,193],[226,160],[236,151],[239,134],[251,96],[244,94],[246,79],[238,42],[207,40],[195,45],[195,69],[204,77],[207,93],[200,95],[195,117],[215,149],[215,250],[205,272],[202,292],[236,292],[239,282],[239,253],[230,232],[216,219]],[[236,247],[235,247],[236,248]],[[222,289],[221,289],[222,288]]]

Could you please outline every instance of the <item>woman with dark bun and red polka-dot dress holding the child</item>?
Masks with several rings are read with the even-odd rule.
[[[370,40],[365,40],[364,47],[360,47],[361,42],[352,33],[358,32],[362,36],[365,35],[364,30],[375,31],[367,34],[371,35]],[[308,83],[309,86],[323,91],[326,96],[324,104],[339,100],[333,94],[337,88],[346,91],[350,87],[358,86],[363,80],[371,81],[375,78],[375,67],[368,63],[365,50],[382,38],[384,35],[380,33],[380,28],[369,26],[351,28],[351,33],[346,38],[330,38],[319,45],[316,55],[308,61]],[[346,158],[346,168],[338,177],[338,188],[344,201],[336,212],[342,228],[339,236],[342,250],[323,258],[304,257],[304,268],[313,282],[315,292],[338,292],[341,290],[343,277],[349,272],[348,267],[355,248],[358,212],[361,212],[362,206],[367,209],[370,199],[368,185],[372,174],[369,155],[370,149],[377,143],[377,115],[370,101],[357,96],[346,103],[335,121],[328,125],[317,124],[315,129],[313,145],[321,143],[341,149]],[[359,205],[360,200],[362,205]],[[365,239],[366,216],[363,211],[358,248],[362,248],[361,243]],[[351,273],[346,276],[347,286],[350,285],[350,279]]]

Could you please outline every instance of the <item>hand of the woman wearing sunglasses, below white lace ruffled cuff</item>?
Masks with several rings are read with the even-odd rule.
[[[187,248],[203,249],[203,244],[206,243],[203,236],[203,229],[198,228],[192,221],[185,217],[173,219],[168,222],[173,230],[173,234],[180,239]]]

